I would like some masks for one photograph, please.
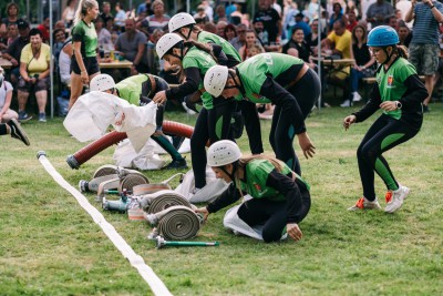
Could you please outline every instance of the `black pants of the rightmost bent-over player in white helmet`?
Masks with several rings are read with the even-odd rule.
[[[274,100],[272,123],[269,132],[269,142],[276,157],[285,162],[293,172],[301,175],[300,162],[293,151],[296,104],[303,114],[303,120],[309,115],[313,104],[320,95],[320,80],[318,75],[309,69],[308,72],[288,90],[295,100]]]

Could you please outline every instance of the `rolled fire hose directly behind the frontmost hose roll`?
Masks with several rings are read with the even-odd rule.
[[[140,198],[140,204],[143,211],[147,212],[148,214],[158,213],[175,205],[183,205],[192,208],[190,203],[183,195],[171,190],[142,195]]]

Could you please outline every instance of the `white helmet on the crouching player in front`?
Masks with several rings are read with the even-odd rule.
[[[238,161],[241,156],[238,145],[229,140],[217,141],[207,151],[209,166],[224,166]]]

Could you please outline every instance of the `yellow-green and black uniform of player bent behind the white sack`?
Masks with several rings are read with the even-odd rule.
[[[151,76],[151,78],[150,78]],[[153,85],[155,84],[155,85]],[[134,105],[145,105],[150,103],[157,92],[165,91],[169,86],[162,78],[151,74],[137,74],[122,80],[115,84],[117,95]],[[157,106],[156,130],[162,130],[164,108]],[[184,161],[183,156],[164,135],[152,135],[161,147],[163,147],[173,161]]]

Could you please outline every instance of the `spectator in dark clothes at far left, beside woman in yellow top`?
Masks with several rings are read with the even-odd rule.
[[[17,28],[19,29],[19,37],[12,41],[3,53],[3,58],[12,63],[11,68],[11,82],[16,84],[20,75],[20,54],[25,44],[29,43],[29,23],[25,20],[18,20]]]

